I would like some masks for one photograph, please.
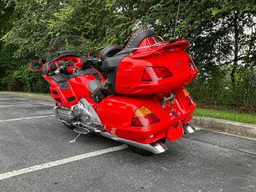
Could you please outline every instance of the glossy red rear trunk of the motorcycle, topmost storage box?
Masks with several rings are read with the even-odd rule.
[[[139,47],[148,46],[144,39]],[[163,45],[161,49],[137,50],[127,55],[120,63],[116,76],[116,93],[132,95],[152,95],[172,92],[177,87],[194,81],[197,69],[190,56],[184,51],[188,42]],[[158,69],[160,77],[155,77]],[[164,78],[168,69],[168,77]],[[168,72],[168,71],[167,71]],[[148,77],[148,78],[147,78]],[[150,81],[150,78],[156,81]],[[143,79],[145,78],[145,79]]]

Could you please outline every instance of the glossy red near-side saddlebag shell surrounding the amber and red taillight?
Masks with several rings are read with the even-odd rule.
[[[153,111],[161,121],[146,127],[131,126],[134,111],[142,106]],[[141,143],[151,143],[164,138],[170,127],[154,98],[112,95],[100,102],[98,115],[109,133]]]

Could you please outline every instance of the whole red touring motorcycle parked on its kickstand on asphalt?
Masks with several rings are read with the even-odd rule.
[[[188,122],[196,103],[184,86],[198,70],[185,52],[187,39],[163,41],[143,28],[124,49],[111,45],[84,55],[88,47],[84,37],[57,37],[45,63],[29,63],[50,83],[59,121],[79,135],[92,132],[126,143],[141,155],[163,153],[166,139],[195,131]],[[107,79],[94,68],[99,65]]]

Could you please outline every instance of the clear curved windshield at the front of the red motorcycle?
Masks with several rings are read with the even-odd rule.
[[[56,37],[49,43],[46,62],[53,61],[62,55],[85,56],[89,52],[89,42],[81,36],[67,35]]]

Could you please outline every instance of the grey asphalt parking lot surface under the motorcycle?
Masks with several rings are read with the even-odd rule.
[[[199,130],[145,157],[94,134],[70,143],[54,106],[0,94],[0,191],[256,191],[255,140]]]

